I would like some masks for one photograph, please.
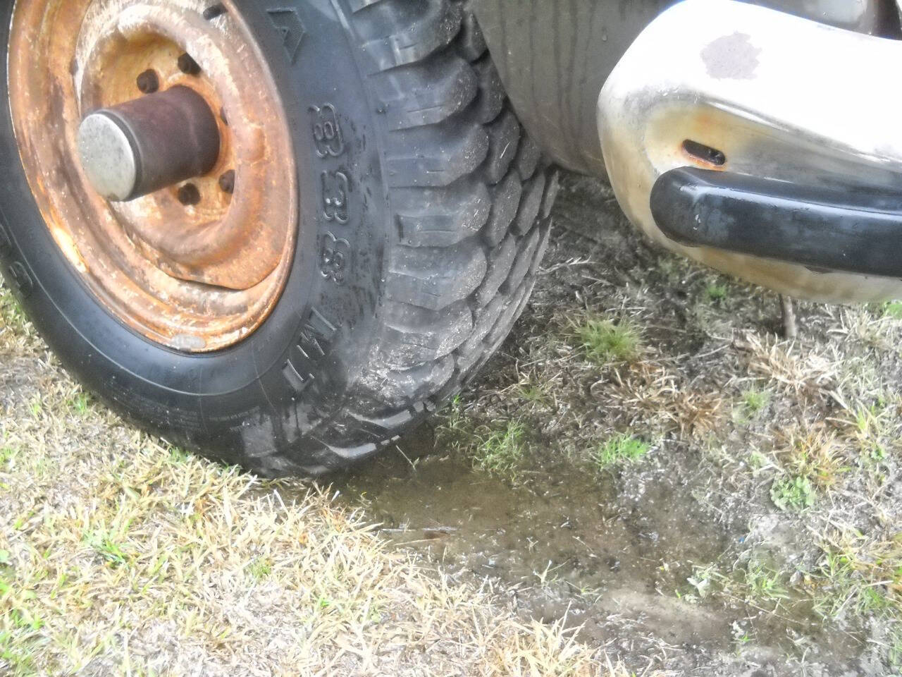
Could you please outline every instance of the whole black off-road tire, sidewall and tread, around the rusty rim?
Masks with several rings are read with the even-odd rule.
[[[0,10],[4,45],[12,4]],[[396,441],[498,348],[535,282],[557,181],[464,4],[237,5],[283,92],[299,158],[298,249],[262,326],[188,354],[116,320],[45,226],[5,103],[0,256],[41,335],[117,412],[263,476],[319,475]],[[310,131],[322,115],[341,129],[332,148]],[[336,181],[346,214],[322,201]]]

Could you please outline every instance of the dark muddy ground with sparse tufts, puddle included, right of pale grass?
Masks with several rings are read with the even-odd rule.
[[[647,245],[606,186],[563,183],[500,354],[336,487],[638,673],[897,674],[902,306],[799,303],[787,341],[775,294]],[[592,320],[634,349],[590,354]],[[640,458],[600,456],[622,440]]]

